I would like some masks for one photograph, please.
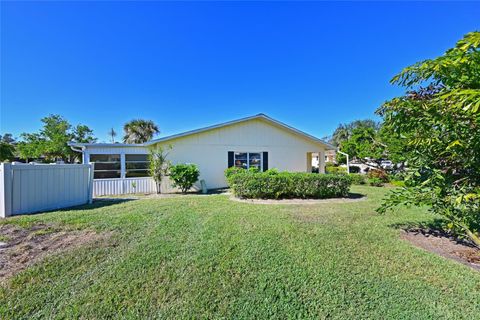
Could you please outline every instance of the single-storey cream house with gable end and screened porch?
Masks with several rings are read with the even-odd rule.
[[[226,187],[224,171],[228,167],[276,168],[280,171],[311,172],[312,154],[325,159],[334,146],[258,114],[210,127],[151,140],[144,144],[71,143],[83,153],[83,162],[95,163],[94,194],[108,195],[155,192],[148,176],[149,148],[171,146],[168,159],[173,163],[194,163],[200,180],[208,189]],[[325,161],[319,163],[325,172]],[[199,184],[196,186],[199,187]],[[163,191],[170,189],[168,181]]]

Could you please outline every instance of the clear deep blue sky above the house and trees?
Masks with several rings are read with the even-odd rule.
[[[372,118],[403,67],[480,29],[448,2],[2,2],[0,133],[58,113],[100,141],[266,113],[323,137]]]

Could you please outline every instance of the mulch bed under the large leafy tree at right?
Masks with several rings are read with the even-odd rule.
[[[466,242],[425,229],[403,230],[401,237],[417,247],[480,271],[480,250]]]

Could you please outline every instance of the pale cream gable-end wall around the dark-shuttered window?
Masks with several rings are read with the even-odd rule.
[[[320,143],[254,119],[231,126],[166,141],[172,163],[195,163],[207,188],[226,187],[224,170],[228,151],[268,152],[268,167],[281,171],[307,172],[307,153],[324,152]]]

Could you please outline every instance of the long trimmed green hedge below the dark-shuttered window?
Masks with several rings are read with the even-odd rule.
[[[235,196],[247,199],[324,199],[348,196],[348,175],[227,171],[227,182]]]

